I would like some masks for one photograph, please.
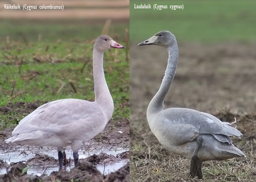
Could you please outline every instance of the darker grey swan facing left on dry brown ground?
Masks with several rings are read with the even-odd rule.
[[[240,131],[210,114],[188,109],[163,110],[163,99],[169,91],[178,64],[178,45],[169,31],[161,31],[138,44],[163,46],[169,53],[162,84],[147,108],[147,120],[158,141],[172,153],[191,159],[189,175],[203,178],[202,162],[246,157],[230,136],[240,138]]]

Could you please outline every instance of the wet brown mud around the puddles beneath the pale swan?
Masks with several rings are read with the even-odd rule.
[[[125,106],[129,106],[129,100],[125,101],[127,103],[123,103]],[[46,102],[40,102],[39,100],[36,100],[34,103],[29,102],[17,102],[17,103],[8,103],[7,106],[0,108],[0,114],[10,114],[15,113],[15,115],[23,115],[34,111],[37,107],[39,107],[40,104],[43,104]],[[26,146],[26,145],[19,145],[19,144],[6,144],[4,142],[5,139],[11,137],[11,132],[14,128],[6,128],[3,131],[0,131],[0,151],[1,153],[6,153],[8,155],[8,152],[14,152],[16,150],[23,150],[25,153],[29,153],[29,150],[31,151],[37,151],[40,154],[36,154],[33,159],[29,159],[27,163],[32,164],[33,166],[39,165],[39,164],[47,164],[47,165],[58,165],[57,159],[54,159],[53,157],[49,157],[48,155],[44,155],[44,152],[53,150],[51,147],[34,147],[34,146]],[[120,118],[116,122],[113,122],[110,120],[104,131],[102,131],[100,134],[95,136],[93,139],[88,141],[87,143],[83,144],[81,146],[81,150],[84,150],[87,153],[94,153],[97,152],[97,150],[114,150],[114,149],[129,149],[129,121],[123,118]],[[65,147],[65,150],[70,151],[70,147]],[[93,170],[95,173],[86,171],[87,167],[81,167],[81,169],[72,170],[70,173],[68,173],[66,170],[58,171],[56,173],[52,173],[50,175],[50,179],[56,179],[56,180],[62,180],[62,181],[70,181],[71,179],[79,179],[79,180],[89,180],[89,181],[112,181],[112,178],[116,176],[119,181],[127,181],[129,179],[129,165],[124,166],[122,169],[116,171],[116,173],[109,174],[109,175],[102,175],[95,167],[91,166],[91,164],[97,164],[99,162],[102,162],[104,159],[110,159],[110,161],[117,161],[117,160],[124,160],[129,159],[129,152],[126,153],[120,153],[118,156],[113,155],[107,155],[105,153],[101,153],[99,155],[92,155],[84,160],[79,159],[80,162],[82,162],[82,166],[85,165],[89,169]],[[85,164],[84,164],[85,162]],[[87,163],[89,162],[89,164]],[[109,161],[108,161],[109,162]],[[74,163],[74,161],[71,159],[71,163]],[[7,163],[4,163],[0,160],[0,168],[8,168],[8,175],[0,175],[0,181],[39,181],[40,179],[44,179],[45,181],[48,180],[48,177],[40,177],[37,178],[36,176],[28,175],[26,177],[20,176],[20,173],[17,172],[17,175],[14,175],[14,172],[12,171],[12,168],[14,164],[11,164],[11,166],[7,165]],[[19,164],[22,165],[22,164]],[[46,165],[46,166],[47,166]],[[24,165],[23,165],[24,167]],[[26,167],[26,165],[25,165]],[[127,168],[128,167],[128,168]],[[19,168],[19,167],[18,167]],[[127,171],[128,170],[128,171]],[[81,172],[83,171],[83,172]],[[93,173],[94,175],[88,175],[88,177],[83,177],[87,173]],[[15,172],[16,174],[16,172]],[[72,174],[72,175],[71,175]],[[79,175],[80,174],[80,175]],[[11,175],[11,177],[10,177]],[[126,177],[128,175],[128,177]],[[69,178],[66,178],[65,176],[69,176]],[[122,176],[122,177],[120,177]],[[49,179],[49,180],[50,180]],[[48,180],[48,181],[49,181]],[[118,182],[117,180],[117,182]]]

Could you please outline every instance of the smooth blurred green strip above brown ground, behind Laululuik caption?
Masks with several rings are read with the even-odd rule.
[[[151,9],[135,9],[134,4],[151,4]],[[184,9],[154,10],[154,4],[183,4]],[[179,41],[255,41],[255,7],[256,1],[251,0],[130,0],[130,40],[143,41],[148,35],[168,30]]]

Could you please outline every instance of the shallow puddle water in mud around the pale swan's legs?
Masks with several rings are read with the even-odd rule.
[[[93,153],[86,153],[83,151],[79,151],[79,159],[85,159],[89,162],[96,162],[96,168],[103,174],[109,174],[111,172],[114,172],[118,169],[120,169],[121,167],[125,166],[127,164],[127,162],[129,161],[129,158],[125,158],[124,159],[120,159],[118,157],[118,154],[122,154],[125,153],[126,151],[128,151],[129,149],[125,150],[125,149],[115,149],[115,150],[97,150]],[[23,152],[24,150],[17,150],[16,152],[8,152],[8,153],[0,153],[0,159],[3,160],[4,162],[7,162],[8,165],[10,165],[11,162],[19,162],[19,161],[27,161],[30,158],[34,158],[35,157],[35,153],[38,152],[37,151],[26,151]],[[29,153],[30,152],[30,153]],[[72,151],[71,150],[65,150],[66,153],[66,157],[69,161],[69,158],[71,159],[71,163],[70,166],[66,166],[65,169],[67,171],[69,171],[70,169],[72,169],[74,167],[74,161],[73,159],[73,155],[72,155]],[[56,150],[52,150],[52,151],[44,151],[44,154],[48,155],[49,157],[54,157],[55,159],[51,159],[49,161],[46,161],[44,163],[41,163],[41,161],[39,162],[35,162],[35,161],[27,161],[27,163],[30,165],[29,170],[27,170],[27,174],[34,174],[34,175],[38,175],[40,176],[41,174],[47,174],[49,175],[50,173],[52,173],[52,171],[58,171],[59,170],[59,162],[58,162],[58,153]],[[42,154],[42,155],[44,155]],[[117,156],[117,157],[116,157]],[[105,158],[108,158],[110,160],[108,160],[108,162],[105,164],[104,167],[104,163],[103,160]],[[64,166],[63,166],[64,168]],[[105,169],[104,169],[105,168]],[[0,175],[1,174],[6,174],[7,171],[5,168],[0,169]]]

